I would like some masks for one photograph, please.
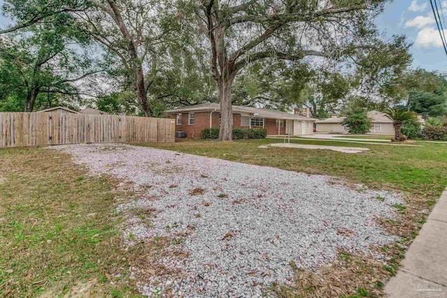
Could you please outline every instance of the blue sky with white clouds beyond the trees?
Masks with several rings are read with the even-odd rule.
[[[447,17],[447,0],[441,3]],[[0,6],[3,0],[0,0]],[[447,20],[447,19],[446,19]],[[0,15],[0,28],[10,23]],[[404,34],[413,43],[413,66],[447,72],[447,57],[442,47],[429,0],[395,0],[386,4],[376,19],[379,29],[390,37]],[[446,23],[447,26],[447,23]],[[447,30],[446,30],[447,33]]]

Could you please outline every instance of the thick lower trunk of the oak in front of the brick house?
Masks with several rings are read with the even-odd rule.
[[[231,85],[233,78],[221,80],[219,84],[219,101],[221,103],[220,141],[233,140],[233,108],[231,106]]]

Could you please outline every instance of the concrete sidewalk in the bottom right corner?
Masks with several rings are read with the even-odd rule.
[[[388,297],[447,298],[447,190],[385,288]]]

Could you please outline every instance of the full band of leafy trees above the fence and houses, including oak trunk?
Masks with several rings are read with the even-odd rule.
[[[405,103],[446,114],[446,80],[411,69],[405,36],[374,18],[387,0],[6,0],[0,110],[80,105],[159,117],[166,108],[307,106],[313,117]]]

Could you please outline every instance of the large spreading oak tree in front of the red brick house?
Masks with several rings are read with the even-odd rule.
[[[209,40],[219,86],[220,140],[231,140],[231,89],[235,76],[260,59],[362,64],[388,47],[374,17],[386,0],[198,0],[195,11]],[[398,44],[397,46],[400,46]],[[399,51],[406,50],[402,45]]]

